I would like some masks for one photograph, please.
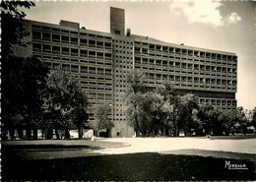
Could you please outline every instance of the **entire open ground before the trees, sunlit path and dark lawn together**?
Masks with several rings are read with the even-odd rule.
[[[255,180],[256,139],[9,141],[3,180]],[[247,169],[228,169],[226,162]]]

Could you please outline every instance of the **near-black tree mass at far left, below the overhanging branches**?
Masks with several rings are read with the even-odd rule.
[[[6,64],[8,66],[2,70],[3,124],[12,131],[14,128],[10,127],[19,126],[18,129],[21,130],[26,127],[27,137],[30,140],[32,129],[40,120],[41,91],[46,87],[48,68],[35,57],[10,56]],[[20,116],[19,122],[16,119],[16,124],[13,125],[12,118],[18,116]]]

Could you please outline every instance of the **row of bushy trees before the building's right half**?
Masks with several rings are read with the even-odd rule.
[[[168,82],[149,91],[143,80],[139,72],[127,78],[126,116],[136,136],[178,137],[181,131],[185,136],[246,135],[256,128],[256,107],[248,111],[243,107],[220,109],[211,104],[199,104],[198,96],[179,95]]]

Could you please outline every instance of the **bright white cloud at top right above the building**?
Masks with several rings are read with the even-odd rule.
[[[241,18],[236,13],[231,13],[222,17],[220,1],[173,1],[169,5],[169,10],[180,16],[184,15],[188,23],[201,23],[212,25],[214,27],[228,26],[237,24]]]

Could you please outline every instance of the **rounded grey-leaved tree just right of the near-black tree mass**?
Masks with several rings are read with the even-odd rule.
[[[57,67],[47,79],[47,88],[44,91],[44,116],[51,121],[49,125],[50,135],[55,129],[57,139],[60,139],[58,130],[65,130],[65,138],[70,138],[69,130],[73,124],[81,128],[87,121],[86,108],[88,98],[81,90],[79,81],[70,72]],[[84,111],[83,111],[84,109]]]

